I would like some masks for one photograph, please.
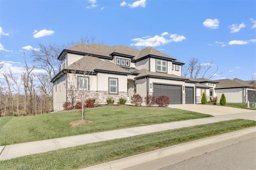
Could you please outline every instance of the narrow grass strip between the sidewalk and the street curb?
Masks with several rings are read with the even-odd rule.
[[[256,126],[236,119],[166,130],[0,161],[2,169],[79,169],[135,154]]]

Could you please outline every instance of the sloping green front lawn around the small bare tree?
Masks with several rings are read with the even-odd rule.
[[[71,127],[70,122],[81,119],[81,111],[1,117],[0,146],[212,116],[171,108],[100,107],[88,109],[85,117],[93,123]]]

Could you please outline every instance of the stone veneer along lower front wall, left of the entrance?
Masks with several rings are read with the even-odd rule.
[[[88,98],[94,98],[96,99],[96,103],[106,103],[106,99],[108,97],[112,97],[115,100],[115,103],[119,102],[119,98],[123,97],[127,99],[128,92],[118,92],[118,95],[110,95],[108,94],[108,91],[87,91],[86,95],[88,95]],[[76,95],[76,101],[79,100],[78,95]],[[68,101],[71,102],[71,99],[68,97]]]

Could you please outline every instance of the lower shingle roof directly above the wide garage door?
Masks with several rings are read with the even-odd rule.
[[[166,73],[159,73],[159,72],[151,72],[148,71],[147,69],[141,69],[140,74],[134,77],[134,79],[140,78],[140,77],[145,77],[145,76],[156,76],[156,77],[166,77],[166,78],[172,78],[172,79],[183,79],[183,80],[188,80],[186,77],[174,75],[174,74],[166,74]]]

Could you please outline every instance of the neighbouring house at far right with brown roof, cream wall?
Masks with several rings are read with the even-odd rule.
[[[228,103],[256,103],[256,84],[255,81],[244,81],[238,78],[215,80],[215,92],[218,100],[222,93]]]

